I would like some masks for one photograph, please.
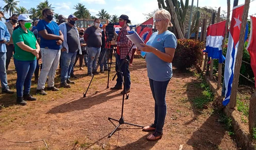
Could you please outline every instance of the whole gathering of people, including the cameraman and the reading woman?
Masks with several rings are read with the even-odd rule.
[[[1,16],[2,15],[2,16]],[[144,127],[143,131],[154,131],[147,140],[157,140],[162,137],[162,128],[166,115],[166,89],[172,77],[172,59],[174,56],[177,39],[167,28],[172,26],[171,15],[166,10],[155,13],[154,32],[142,48],[132,47],[129,35],[128,23],[131,21],[127,15],[119,17],[119,26],[122,28],[115,39],[108,41],[106,32],[107,24],[100,24],[100,19],[94,20],[93,26],[86,30],[78,30],[74,15],[58,16],[58,23],[53,21],[54,12],[51,9],[42,11],[41,20],[31,20],[28,14],[13,14],[8,22],[0,21],[0,80],[2,93],[14,94],[10,90],[7,81],[7,73],[11,57],[13,56],[15,70],[17,72],[16,90],[17,104],[26,105],[27,101],[37,98],[30,94],[31,79],[34,74],[37,84],[36,94],[47,95],[45,90],[59,91],[55,87],[54,79],[59,66],[60,87],[71,88],[75,84],[72,78],[74,66],[79,59],[80,70],[83,69],[83,60],[87,66],[88,76],[99,74],[97,63],[101,55],[100,73],[109,71],[107,65],[108,55],[105,49],[109,45],[116,46],[116,85],[112,90],[123,89],[123,80],[126,80],[124,92],[130,92],[131,79],[129,65],[132,63],[133,54],[140,50],[146,52],[147,73],[150,81],[153,98],[155,100],[155,121],[150,126]],[[3,17],[3,14],[0,14]],[[33,22],[33,27],[32,27]],[[132,49],[132,50],[131,50]],[[13,55],[14,53],[14,55]],[[126,56],[129,56],[130,64],[122,64]],[[39,70],[40,76],[39,76]],[[126,72],[123,74],[123,72]],[[45,83],[47,81],[47,88]],[[123,91],[121,92],[123,94]]]

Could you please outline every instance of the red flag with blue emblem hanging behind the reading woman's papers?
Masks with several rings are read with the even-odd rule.
[[[152,24],[152,25],[153,25],[153,23],[154,23],[154,21],[153,21],[153,17],[152,17],[152,18],[148,19],[147,21],[145,21],[145,22],[143,22],[143,23],[141,23],[141,24]],[[137,30],[137,33],[139,34],[140,31],[141,31],[141,27],[140,27],[140,26],[137,27],[136,30]],[[141,33],[140,33],[139,36],[140,36],[141,39],[144,41],[144,43],[147,43],[147,41],[148,41],[148,39],[150,38],[151,34],[152,34],[152,28],[145,27],[145,28],[141,31]]]

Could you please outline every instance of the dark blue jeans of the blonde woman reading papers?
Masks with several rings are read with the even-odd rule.
[[[156,128],[157,132],[162,133],[163,131],[163,124],[165,124],[165,116],[166,116],[166,88],[170,81],[155,81],[149,79],[150,81],[150,88],[153,94],[153,98],[155,100],[155,121],[153,127]]]

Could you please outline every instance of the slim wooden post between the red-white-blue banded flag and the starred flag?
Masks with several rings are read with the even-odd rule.
[[[227,0],[227,6],[228,6],[228,11],[227,11],[228,14],[227,14],[227,20],[226,20],[226,24],[225,24],[225,34],[224,34],[224,38],[222,40],[222,46],[221,46],[222,50],[224,48],[225,40],[226,40],[226,36],[227,36],[227,29],[228,29],[228,23],[229,23],[229,17],[230,17],[230,0]],[[222,64],[219,64],[217,89],[221,87],[221,82],[222,82]]]

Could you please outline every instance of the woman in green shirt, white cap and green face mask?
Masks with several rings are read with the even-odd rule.
[[[19,27],[13,31],[14,41],[14,64],[17,70],[17,104],[26,105],[28,101],[36,100],[30,93],[31,78],[37,66],[40,46],[34,34],[28,29],[32,20],[28,14],[21,14],[18,17]]]

